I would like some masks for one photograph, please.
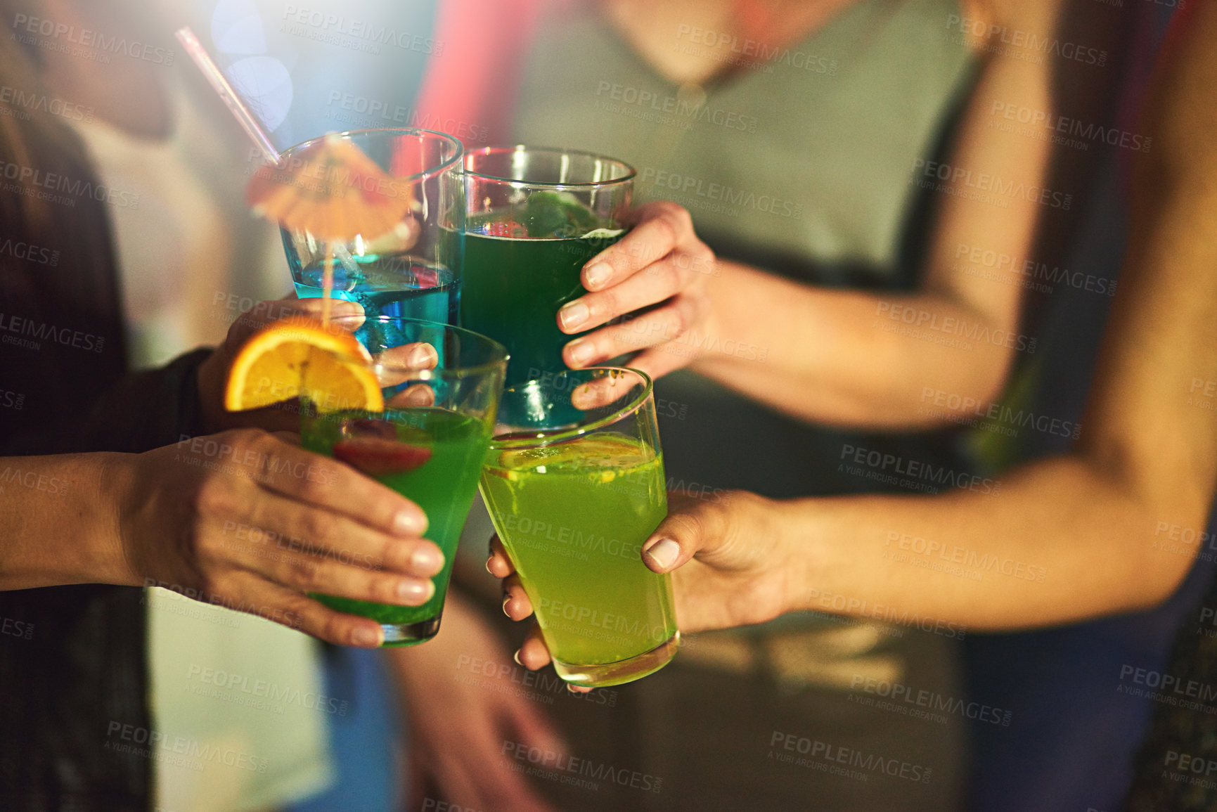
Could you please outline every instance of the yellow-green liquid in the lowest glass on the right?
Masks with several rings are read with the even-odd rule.
[[[615,663],[675,634],[672,581],[641,560],[641,542],[668,513],[651,449],[593,435],[499,452],[482,495],[555,661]]]

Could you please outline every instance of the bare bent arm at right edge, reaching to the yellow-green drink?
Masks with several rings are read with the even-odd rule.
[[[821,609],[832,593],[989,629],[1144,609],[1178,587],[1198,548],[1172,534],[1200,534],[1217,477],[1217,7],[1194,15],[1155,77],[1154,151],[1137,166],[1129,251],[1075,452],[1011,471],[996,495],[804,499],[776,515],[748,498],[675,514],[660,534],[680,543],[678,560],[686,539],[714,539],[710,566],[686,573],[695,604],[683,617],[723,623],[697,595],[722,586],[724,564],[765,573],[786,609]],[[1044,579],[977,582],[885,560],[905,536],[1022,561]],[[741,555],[753,542],[791,575],[778,579],[758,550]]]

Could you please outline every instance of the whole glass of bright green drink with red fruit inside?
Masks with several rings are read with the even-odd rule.
[[[434,595],[421,606],[314,597],[331,609],[378,621],[385,645],[421,643],[439,631],[456,542],[490,443],[506,351],[484,336],[430,321],[389,317],[332,321],[352,332],[358,329],[372,360],[350,363],[370,363],[383,386],[385,409],[326,414],[305,409],[303,444],[422,508],[427,538],[443,550],[444,569],[432,578]],[[422,360],[410,364],[410,359]]]

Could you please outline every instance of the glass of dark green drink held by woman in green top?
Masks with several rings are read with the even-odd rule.
[[[583,265],[621,239],[634,170],[587,152],[525,146],[465,156],[461,324],[511,353],[509,386],[560,373],[576,336],[557,310],[587,291]]]

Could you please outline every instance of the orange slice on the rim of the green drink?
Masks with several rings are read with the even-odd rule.
[[[295,315],[253,334],[232,362],[224,408],[260,409],[302,394],[318,411],[382,411],[385,398],[355,337]]]

